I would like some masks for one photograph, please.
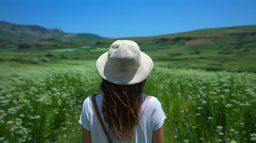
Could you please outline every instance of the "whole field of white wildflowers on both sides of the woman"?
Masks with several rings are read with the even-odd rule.
[[[81,142],[94,64],[0,64],[0,142]],[[144,94],[161,101],[165,142],[256,142],[256,74],[154,67]]]

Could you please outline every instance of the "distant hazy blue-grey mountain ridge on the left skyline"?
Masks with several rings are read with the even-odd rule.
[[[101,36],[81,33],[64,33],[60,29],[47,29],[37,25],[18,25],[0,21],[0,39],[33,40],[55,38],[60,41],[87,42],[104,39]]]

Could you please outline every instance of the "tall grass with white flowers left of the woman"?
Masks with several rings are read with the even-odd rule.
[[[72,138],[78,132],[83,100],[97,92],[99,80],[94,73],[83,67],[14,73],[8,87],[0,86],[1,141],[63,142]]]

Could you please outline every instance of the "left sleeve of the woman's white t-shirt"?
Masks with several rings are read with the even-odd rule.
[[[87,130],[91,130],[90,123],[89,123],[89,117],[90,117],[90,98],[86,98],[83,103],[82,112],[80,116],[79,123]]]

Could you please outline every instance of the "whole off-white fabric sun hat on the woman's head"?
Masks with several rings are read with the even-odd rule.
[[[96,67],[101,77],[119,85],[133,85],[149,76],[152,59],[140,51],[134,41],[118,40],[112,43],[108,52],[102,54]]]

